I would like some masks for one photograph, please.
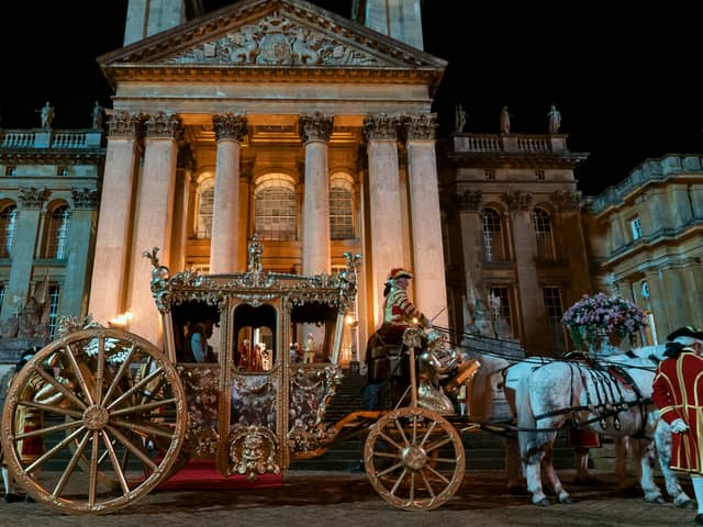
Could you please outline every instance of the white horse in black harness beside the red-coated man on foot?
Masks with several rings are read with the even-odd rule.
[[[582,430],[629,438],[633,456],[639,461],[639,483],[645,500],[665,503],[654,479],[656,444],[667,492],[673,497],[674,505],[692,506],[691,498],[669,468],[671,430],[659,419],[651,402],[651,381],[662,351],[663,346],[636,348],[627,354],[602,358],[595,367],[579,361],[554,360],[516,375],[514,404],[520,455],[534,504],[549,504],[542,487],[543,468],[559,502],[570,503],[569,493],[549,463],[549,457],[557,430],[574,424]],[[624,471],[622,442],[618,449],[618,463],[623,463],[621,470]]]

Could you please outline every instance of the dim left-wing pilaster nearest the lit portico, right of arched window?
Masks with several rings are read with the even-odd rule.
[[[58,313],[83,316],[88,313],[88,279],[92,269],[90,257],[91,234],[98,223],[97,189],[71,189],[74,206],[68,226],[66,274],[62,288]],[[98,271],[100,272],[100,271]]]

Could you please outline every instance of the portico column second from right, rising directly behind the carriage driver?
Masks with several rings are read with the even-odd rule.
[[[373,325],[381,318],[383,284],[393,267],[403,261],[403,226],[398,165],[398,117],[384,113],[364,122],[369,166],[369,217],[371,234],[371,291]],[[410,267],[410,266],[408,266]]]

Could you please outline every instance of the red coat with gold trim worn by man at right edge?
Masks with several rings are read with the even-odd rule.
[[[689,426],[682,434],[673,434],[671,468],[703,473],[703,357],[684,351],[659,363],[652,383],[652,400],[659,415],[671,424],[681,418]]]

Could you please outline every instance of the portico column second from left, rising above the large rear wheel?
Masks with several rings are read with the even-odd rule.
[[[159,346],[159,315],[149,287],[153,266],[143,253],[158,247],[159,261],[170,261],[177,141],[182,128],[178,116],[164,112],[149,116],[145,124],[144,171],[137,186],[127,305],[133,314],[130,329]]]

